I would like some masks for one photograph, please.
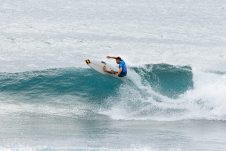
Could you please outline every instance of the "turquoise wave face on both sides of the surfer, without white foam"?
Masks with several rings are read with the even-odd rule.
[[[190,67],[158,64],[132,67],[130,70],[141,76],[144,85],[151,85],[155,91],[163,95],[176,96],[193,86]],[[121,80],[86,68],[1,73],[0,83],[0,92],[27,95],[78,95],[95,100],[116,95],[120,85],[125,84]]]

